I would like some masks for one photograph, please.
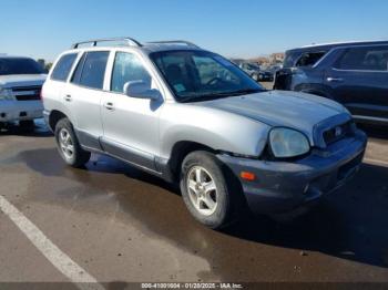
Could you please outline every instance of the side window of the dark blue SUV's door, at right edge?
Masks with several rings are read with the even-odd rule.
[[[341,70],[387,71],[388,46],[348,49],[336,62],[335,68]]]

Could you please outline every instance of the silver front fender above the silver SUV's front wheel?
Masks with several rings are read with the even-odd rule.
[[[195,142],[215,151],[259,156],[269,126],[234,113],[187,104],[165,106],[161,115],[161,157],[170,158],[177,142]]]

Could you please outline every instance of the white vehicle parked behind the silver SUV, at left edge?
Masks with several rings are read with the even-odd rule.
[[[0,56],[0,125],[19,122],[32,130],[33,120],[43,116],[40,97],[45,80],[43,68],[32,59]]]

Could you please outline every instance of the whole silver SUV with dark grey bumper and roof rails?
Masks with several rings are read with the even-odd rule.
[[[108,41],[121,45],[101,45]],[[191,214],[211,228],[247,207],[282,214],[310,205],[357,172],[367,142],[340,104],[265,91],[184,41],[75,43],[42,95],[67,164],[102,153],[180,184]]]

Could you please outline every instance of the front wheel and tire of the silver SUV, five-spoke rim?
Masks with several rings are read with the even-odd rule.
[[[196,175],[198,169],[203,169],[202,174],[200,174],[202,175],[200,179],[204,182],[202,184],[210,185],[210,180],[213,180],[214,190],[205,193],[204,188],[198,187],[200,180]],[[226,176],[227,173],[223,169],[223,164],[208,152],[193,152],[182,163],[180,187],[183,200],[193,217],[212,229],[223,228],[236,219],[232,209],[232,191],[236,187],[227,184],[226,180],[231,180],[232,178],[225,178]],[[193,186],[194,184],[195,186]],[[192,189],[194,187],[198,187],[195,189],[197,191]],[[205,204],[201,198],[212,198],[213,203],[215,201],[216,204],[215,208],[207,206],[208,199],[206,199],[207,201]],[[200,201],[196,203],[198,199]],[[198,209],[198,207],[202,207],[202,209]]]

